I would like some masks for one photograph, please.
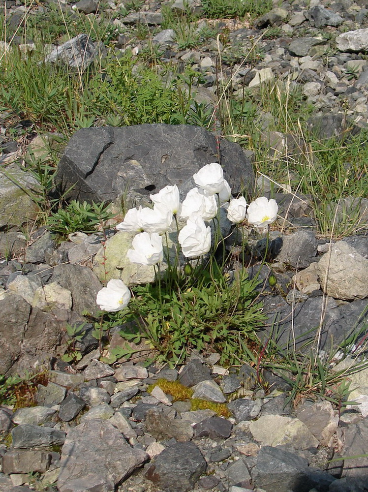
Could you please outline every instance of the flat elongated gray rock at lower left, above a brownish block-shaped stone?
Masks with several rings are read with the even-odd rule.
[[[28,424],[15,427],[11,431],[14,448],[33,448],[63,444],[65,432],[50,427],[31,426]]]

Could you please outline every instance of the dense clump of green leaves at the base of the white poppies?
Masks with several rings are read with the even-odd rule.
[[[241,270],[228,285],[217,265],[198,267],[189,279],[177,279],[176,284],[171,283],[173,275],[171,271],[162,282],[135,287],[122,311],[123,322],[136,322],[141,336],[170,364],[193,348],[218,352],[222,364],[239,361],[242,342],[254,339],[265,319],[256,302],[258,280],[249,280]],[[124,329],[120,334],[131,338]]]

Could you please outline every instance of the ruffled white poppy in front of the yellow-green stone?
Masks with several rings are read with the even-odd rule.
[[[128,249],[126,256],[132,263],[156,265],[163,260],[162,237],[156,232],[141,232],[133,238],[133,249]]]

